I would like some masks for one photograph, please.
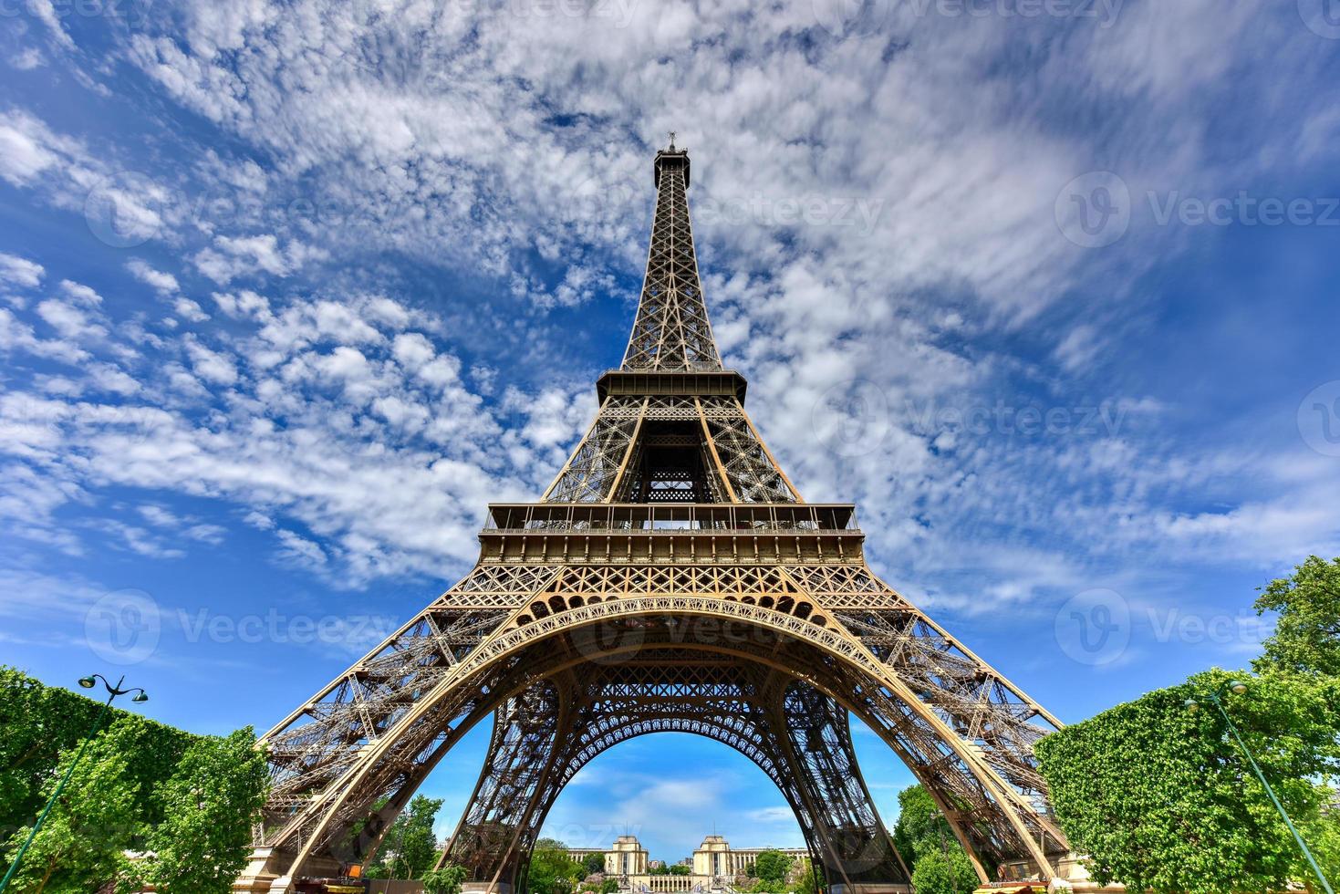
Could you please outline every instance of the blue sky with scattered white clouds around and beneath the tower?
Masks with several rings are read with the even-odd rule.
[[[9,4],[0,659],[264,729],[411,617],[587,425],[675,130],[726,362],[879,574],[1067,721],[1241,666],[1340,554],[1324,3]],[[548,831],[783,804],[666,735]]]

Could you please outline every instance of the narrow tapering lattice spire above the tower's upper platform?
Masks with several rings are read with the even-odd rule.
[[[720,370],[708,306],[698,281],[698,256],[689,222],[689,150],[657,153],[657,212],[651,224],[647,272],[632,323],[624,370]]]

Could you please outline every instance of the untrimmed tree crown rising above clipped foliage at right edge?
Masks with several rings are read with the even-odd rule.
[[[1265,654],[1253,662],[1257,672],[1340,677],[1340,559],[1308,556],[1290,576],[1262,588],[1256,610],[1280,614]]]

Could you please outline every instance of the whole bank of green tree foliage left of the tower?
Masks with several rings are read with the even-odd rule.
[[[0,667],[0,810],[27,838],[103,705]],[[255,736],[192,736],[107,709],[11,883],[13,894],[87,894],[117,881],[163,894],[232,889],[268,781]],[[19,818],[19,819],[15,819]],[[126,850],[147,852],[127,862]]]

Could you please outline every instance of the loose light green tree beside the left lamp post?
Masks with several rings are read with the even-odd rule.
[[[96,891],[117,877],[121,852],[131,844],[138,827],[139,783],[127,772],[125,756],[149,735],[149,724],[125,714],[88,743],[11,881],[13,894]],[[42,788],[43,799],[55,792],[75,755],[76,749],[62,755]],[[31,828],[13,834],[9,854]]]

